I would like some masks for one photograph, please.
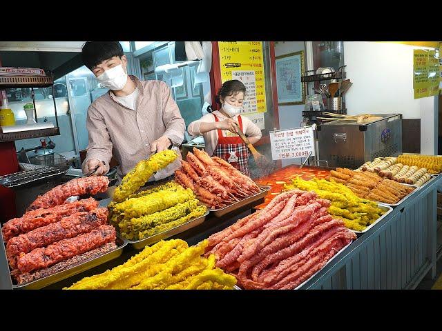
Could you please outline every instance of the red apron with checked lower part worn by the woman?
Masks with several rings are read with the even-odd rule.
[[[215,114],[213,116],[215,117],[215,122],[220,121]],[[238,124],[242,130],[241,116],[238,116]],[[222,130],[218,129],[218,145],[213,152],[213,157],[215,156],[229,162],[240,172],[249,176],[249,167],[247,165],[250,156],[249,148],[247,148],[238,134],[231,133],[231,137],[224,137]]]

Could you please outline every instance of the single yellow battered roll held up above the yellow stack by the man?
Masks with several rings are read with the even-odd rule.
[[[115,189],[113,201],[121,202],[142,187],[154,172],[175,161],[177,153],[173,150],[163,150],[153,154],[147,160],[142,160],[135,168],[124,176],[122,183]]]

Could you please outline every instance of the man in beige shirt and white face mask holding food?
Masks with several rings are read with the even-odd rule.
[[[85,66],[108,93],[88,108],[88,153],[81,168],[106,174],[114,152],[119,181],[142,159],[167,148],[177,150],[184,139],[184,119],[164,81],[140,81],[127,74],[127,59],[118,41],[88,41],[81,50]],[[179,158],[149,181],[171,176]]]

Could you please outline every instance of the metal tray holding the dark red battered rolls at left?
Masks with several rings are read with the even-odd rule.
[[[75,274],[79,274],[80,272],[84,272],[85,270],[94,268],[97,265],[106,263],[113,259],[117,259],[117,257],[122,254],[124,246],[127,245],[127,241],[126,239],[119,237],[117,234],[117,240],[115,241],[115,243],[117,244],[117,248],[111,250],[111,252],[107,252],[106,254],[103,254],[99,257],[95,257],[94,259],[75,265],[74,267],[67,270],[57,272],[56,274],[51,274],[48,277],[37,279],[35,281],[30,281],[29,283],[23,283],[21,285],[12,285],[12,289],[20,288],[27,290],[39,290],[53,283],[57,283],[58,281],[62,281],[66,278],[72,277]],[[14,282],[12,282],[12,284],[14,284]]]

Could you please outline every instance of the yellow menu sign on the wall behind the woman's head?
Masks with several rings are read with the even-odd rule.
[[[267,112],[262,41],[219,41],[221,81],[238,79],[246,87],[243,113]]]

